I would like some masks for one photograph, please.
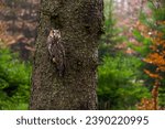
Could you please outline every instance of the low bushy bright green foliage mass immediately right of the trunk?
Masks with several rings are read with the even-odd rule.
[[[141,61],[123,53],[116,57],[105,56],[99,66],[99,109],[135,109],[148,89],[138,78]]]

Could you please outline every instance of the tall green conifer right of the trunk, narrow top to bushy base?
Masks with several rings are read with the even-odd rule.
[[[105,34],[99,46],[98,108],[135,109],[141,98],[150,97],[148,89],[142,86],[143,82],[138,78],[141,60],[133,54],[123,53],[125,47],[118,49],[128,41],[117,26],[113,0],[105,0]],[[125,24],[122,24],[122,28],[123,25]]]

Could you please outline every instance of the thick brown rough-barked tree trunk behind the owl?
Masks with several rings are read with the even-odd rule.
[[[98,39],[102,0],[42,0],[30,109],[96,109]],[[59,29],[66,51],[64,77],[48,58],[46,39]]]

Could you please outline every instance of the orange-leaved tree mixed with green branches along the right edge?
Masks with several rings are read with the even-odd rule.
[[[165,7],[161,1],[151,1],[152,18],[143,15],[144,24],[139,28],[143,39],[144,73],[148,75],[147,84],[152,89],[152,98],[143,98],[139,109],[164,108],[165,85]],[[139,34],[140,35],[140,34]],[[145,41],[145,42],[144,42]],[[147,50],[147,51],[146,51]],[[161,94],[158,92],[161,90]]]

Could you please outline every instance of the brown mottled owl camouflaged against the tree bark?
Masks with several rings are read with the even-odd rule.
[[[65,72],[65,49],[59,30],[51,30],[47,37],[47,49],[51,61],[56,65],[59,76]]]

